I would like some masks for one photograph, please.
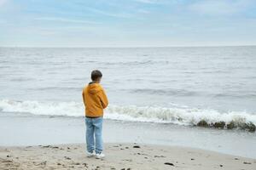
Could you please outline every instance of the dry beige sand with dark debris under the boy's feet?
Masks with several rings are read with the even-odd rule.
[[[2,146],[0,169],[256,169],[256,159],[176,146],[105,144],[102,160],[84,150],[84,144]]]

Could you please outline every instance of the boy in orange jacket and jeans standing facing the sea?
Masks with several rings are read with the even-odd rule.
[[[97,159],[101,159],[104,157],[102,153],[103,109],[108,106],[108,98],[100,85],[102,72],[92,71],[90,78],[92,82],[83,89],[82,94],[85,106],[87,156],[96,156]]]

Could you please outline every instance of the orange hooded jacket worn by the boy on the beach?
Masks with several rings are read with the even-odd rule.
[[[83,89],[85,116],[103,116],[103,109],[108,106],[108,98],[99,83],[89,83]]]

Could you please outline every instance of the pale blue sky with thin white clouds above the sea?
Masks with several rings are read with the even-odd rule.
[[[256,0],[0,0],[0,47],[256,45]]]

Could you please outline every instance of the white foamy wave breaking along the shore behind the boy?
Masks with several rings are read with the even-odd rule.
[[[40,116],[84,116],[81,102],[38,102],[0,100],[0,111],[31,113]],[[185,126],[243,128],[255,131],[256,114],[246,111],[219,112],[197,108],[109,105],[105,118],[132,122],[174,123]]]

